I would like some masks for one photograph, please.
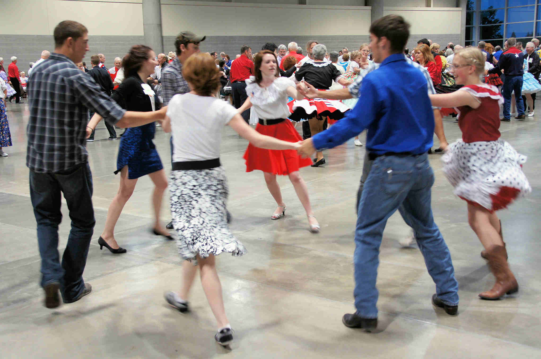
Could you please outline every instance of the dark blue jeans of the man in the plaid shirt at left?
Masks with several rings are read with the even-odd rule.
[[[58,225],[62,221],[61,195],[68,204],[71,230],[62,256],[58,254]],[[30,198],[37,222],[41,256],[41,285],[60,282],[64,300],[75,299],[84,289],[83,271],[94,232],[92,175],[88,163],[57,172],[30,170]]]

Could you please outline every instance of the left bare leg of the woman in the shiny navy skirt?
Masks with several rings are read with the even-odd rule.
[[[128,178],[128,166],[124,166],[120,170],[120,187],[118,187],[118,192],[116,193],[113,201],[109,204],[109,210],[107,211],[107,219],[105,220],[105,228],[101,237],[107,244],[113,249],[118,249],[119,245],[115,240],[115,225],[118,222],[118,217],[122,213],[122,209],[126,202],[133,194],[135,185],[137,184],[137,178],[129,179]]]

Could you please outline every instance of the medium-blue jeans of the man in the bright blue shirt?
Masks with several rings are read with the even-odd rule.
[[[437,296],[448,305],[458,305],[458,282],[454,278],[451,254],[432,216],[433,183],[434,172],[427,154],[381,156],[372,162],[362,190],[355,229],[353,295],[361,317],[378,317],[375,283],[379,247],[387,219],[397,209],[415,231],[428,273],[436,283]]]

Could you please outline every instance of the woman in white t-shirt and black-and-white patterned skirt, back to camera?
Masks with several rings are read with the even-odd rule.
[[[218,324],[215,340],[228,345],[233,334],[223,307],[222,290],[214,256],[229,252],[241,256],[246,249],[229,231],[225,170],[220,165],[220,143],[229,125],[250,143],[273,150],[296,150],[297,142],[261,135],[251,128],[228,102],[214,97],[220,73],[214,59],[195,54],[183,64],[183,76],[192,91],[175,95],[162,123],[173,134],[173,171],[169,191],[173,227],[183,263],[179,292],[167,292],[166,301],[181,312],[188,310],[188,293],[199,264],[201,284]],[[194,261],[194,265],[189,262]]]

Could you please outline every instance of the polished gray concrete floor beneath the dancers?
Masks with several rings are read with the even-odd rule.
[[[493,302],[477,297],[491,288],[493,277],[479,257],[481,245],[467,223],[465,203],[453,195],[439,155],[431,155],[436,172],[432,208],[459,281],[459,315],[432,307],[434,284],[415,245],[400,247],[398,240],[410,231],[395,214],[381,245],[379,327],[372,334],[341,323],[342,314],[354,310],[354,203],[365,147],[348,141],[325,151],[324,167],[301,170],[322,227],[320,234],[311,234],[286,177],[280,178],[286,217],[269,219],[275,204],[261,172],[244,172],[247,142],[226,128],[221,159],[229,180],[231,228],[249,251],[243,257],[221,255],[217,261],[236,333],[230,349],[214,342],[215,320],[199,280],[189,298],[189,314],[163,300],[164,291],[180,286],[181,261],[175,243],[149,233],[153,185],[148,177],[137,183],[116,226],[117,241],[127,254],[100,251],[97,238],[119,181],[113,174],[119,142],[107,139],[103,124],[96,141],[88,143],[96,228],[84,278],[93,291],[55,310],[43,307],[25,167],[27,104],[8,104],[8,118],[14,146],[4,149],[9,157],[0,158],[1,357],[541,357],[541,116],[500,128],[502,137],[528,156],[524,171],[533,188],[529,197],[499,213],[518,294]],[[444,122],[449,141],[459,138],[454,119]],[[169,164],[168,135],[157,129],[155,143]],[[70,229],[65,205],[63,213],[61,248]],[[169,220],[168,198],[162,218]]]

